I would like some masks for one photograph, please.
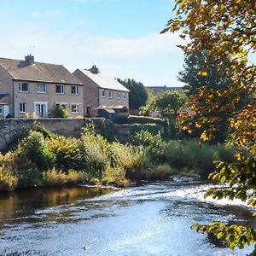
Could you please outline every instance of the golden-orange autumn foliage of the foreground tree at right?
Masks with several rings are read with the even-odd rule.
[[[246,154],[237,152],[231,164],[218,163],[216,172],[209,177],[229,186],[209,189],[206,196],[238,198],[256,207],[256,67],[248,61],[248,55],[256,50],[255,0],[176,0],[175,3],[177,16],[168,21],[163,32],[181,32],[181,38],[189,39],[189,43],[180,46],[185,55],[207,51],[210,58],[198,75],[207,76],[207,68],[216,64],[220,76],[231,79],[223,89],[202,87],[190,97],[190,108],[199,117],[195,125],[204,129],[201,143],[212,140],[219,121],[227,119],[234,143],[247,149]],[[225,60],[224,66],[218,64],[221,60]],[[184,119],[183,129],[189,131],[191,123],[193,120]],[[230,248],[242,248],[256,241],[253,227],[216,222],[195,224],[192,228],[228,241]]]

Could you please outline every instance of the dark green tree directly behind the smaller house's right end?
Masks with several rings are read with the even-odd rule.
[[[148,90],[143,83],[137,82],[134,79],[118,79],[118,81],[128,90],[130,90],[129,106],[131,109],[139,109],[140,107],[146,105],[148,99]]]

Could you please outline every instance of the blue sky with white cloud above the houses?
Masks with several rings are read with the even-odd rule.
[[[146,86],[179,86],[183,52],[177,34],[160,31],[172,0],[0,0],[0,56],[99,67]]]

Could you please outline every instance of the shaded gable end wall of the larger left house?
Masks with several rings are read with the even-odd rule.
[[[0,66],[0,93],[9,93],[9,97],[6,97],[6,100],[4,103],[7,103],[9,105],[9,112],[11,114],[14,113],[13,108],[13,80],[12,77],[7,73],[3,67]]]

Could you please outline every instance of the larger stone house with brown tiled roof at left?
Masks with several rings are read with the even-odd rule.
[[[0,58],[0,118],[26,113],[49,117],[55,106],[70,117],[84,116],[83,83],[62,65]]]

